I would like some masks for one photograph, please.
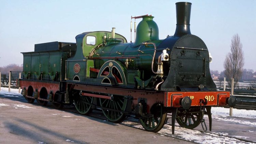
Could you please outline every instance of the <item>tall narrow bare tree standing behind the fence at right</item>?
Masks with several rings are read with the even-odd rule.
[[[239,35],[233,35],[230,44],[230,52],[226,55],[226,59],[224,61],[224,73],[228,78],[238,80],[242,76],[244,66],[244,53],[242,48],[243,45],[240,42]]]

